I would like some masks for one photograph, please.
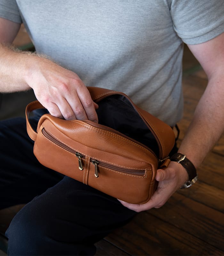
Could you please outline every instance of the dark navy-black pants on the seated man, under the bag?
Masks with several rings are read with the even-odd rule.
[[[25,119],[1,121],[0,141],[0,209],[26,204],[6,231],[9,255],[93,255],[95,242],[135,215],[115,198],[39,164]]]

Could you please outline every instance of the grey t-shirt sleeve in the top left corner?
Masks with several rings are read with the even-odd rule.
[[[0,1],[0,17],[16,23],[22,23],[20,11],[15,0]]]

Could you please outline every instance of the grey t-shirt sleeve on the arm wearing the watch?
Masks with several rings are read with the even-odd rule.
[[[200,44],[224,32],[223,0],[172,0],[174,30],[186,44]]]

